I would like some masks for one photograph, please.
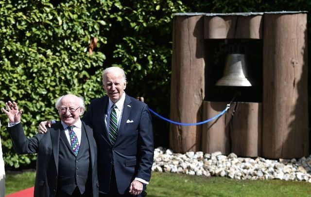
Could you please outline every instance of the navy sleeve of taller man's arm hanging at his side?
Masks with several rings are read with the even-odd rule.
[[[137,178],[150,181],[154,161],[154,136],[148,106],[142,109],[138,134],[138,173]]]

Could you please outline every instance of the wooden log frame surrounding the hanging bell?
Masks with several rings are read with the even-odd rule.
[[[262,80],[254,101],[232,104],[225,115],[197,126],[170,125],[175,152],[231,152],[243,157],[309,155],[307,12],[182,13],[173,19],[171,119],[195,123],[228,102],[211,99],[212,43],[258,40]],[[257,68],[258,69],[258,68]],[[233,114],[234,110],[234,115]]]

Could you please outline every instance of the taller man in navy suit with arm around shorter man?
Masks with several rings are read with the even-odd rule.
[[[143,196],[154,156],[148,106],[125,94],[119,67],[104,70],[103,87],[107,96],[92,100],[83,117],[98,145],[100,196]],[[41,131],[46,123],[41,122]]]

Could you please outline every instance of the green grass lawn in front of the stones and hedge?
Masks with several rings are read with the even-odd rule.
[[[35,172],[7,174],[6,194],[32,187]],[[153,172],[148,197],[307,197],[311,183],[284,180],[236,180]]]

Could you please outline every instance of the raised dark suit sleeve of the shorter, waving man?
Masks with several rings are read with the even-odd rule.
[[[17,154],[37,153],[40,139],[45,134],[36,134],[32,138],[26,138],[21,123],[12,127],[7,127],[11,136],[14,150]]]

